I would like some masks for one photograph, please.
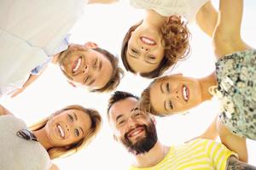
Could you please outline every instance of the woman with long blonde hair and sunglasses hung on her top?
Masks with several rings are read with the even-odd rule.
[[[0,106],[0,169],[53,170],[51,160],[69,156],[90,143],[102,118],[95,110],[69,105],[27,128]]]

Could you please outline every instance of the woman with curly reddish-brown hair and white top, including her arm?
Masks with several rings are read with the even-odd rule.
[[[212,36],[217,12],[209,0],[131,0],[135,8],[144,8],[142,21],[131,26],[122,43],[125,69],[142,77],[159,77],[189,54],[188,20],[196,19],[202,31]]]

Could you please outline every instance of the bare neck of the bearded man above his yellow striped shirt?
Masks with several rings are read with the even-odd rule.
[[[135,167],[153,167],[162,161],[168,153],[169,147],[160,144],[159,141],[154,144],[154,147],[145,154],[136,156]]]

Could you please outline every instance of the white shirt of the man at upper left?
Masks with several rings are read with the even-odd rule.
[[[86,2],[0,1],[0,96],[10,83],[19,88],[33,68],[67,48],[63,40]]]

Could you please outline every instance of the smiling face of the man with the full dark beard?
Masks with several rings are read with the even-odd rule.
[[[157,141],[152,118],[137,108],[137,99],[126,98],[116,102],[109,110],[109,121],[114,136],[131,153],[142,154],[151,150]]]

